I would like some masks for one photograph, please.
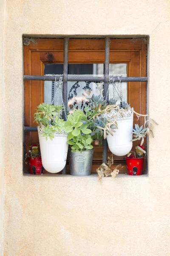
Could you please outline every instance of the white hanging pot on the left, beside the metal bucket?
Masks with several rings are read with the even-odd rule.
[[[42,165],[44,169],[51,173],[57,173],[62,171],[65,167],[67,152],[68,152],[68,137],[67,133],[62,130],[61,134],[58,131],[54,133],[54,139],[45,140],[45,137],[42,136],[43,126],[38,126],[38,136],[40,141],[40,150]]]

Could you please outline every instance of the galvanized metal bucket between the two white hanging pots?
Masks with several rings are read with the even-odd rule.
[[[91,165],[93,160],[94,149],[83,150],[80,152],[71,152],[68,149],[68,159],[70,165],[70,174],[76,176],[91,175]]]

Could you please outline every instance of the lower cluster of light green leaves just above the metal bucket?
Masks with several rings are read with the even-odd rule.
[[[77,137],[73,137],[72,140],[68,140],[68,144],[71,145],[72,152],[82,153],[83,150],[90,150],[93,148],[91,143],[93,139],[90,134],[79,134]]]

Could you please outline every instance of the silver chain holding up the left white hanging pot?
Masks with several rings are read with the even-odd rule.
[[[65,120],[67,121],[67,113],[66,113],[66,107],[64,105],[64,100],[62,98],[62,84],[63,84],[63,75],[60,75],[59,76],[59,81],[56,80],[56,76],[55,76],[55,86],[56,86],[56,93],[51,101],[51,105],[54,105],[54,100],[57,96],[57,103],[58,103],[58,99],[59,99],[59,96],[61,96],[61,99],[62,99],[62,105],[63,105],[63,110],[64,110],[64,113],[65,113]]]

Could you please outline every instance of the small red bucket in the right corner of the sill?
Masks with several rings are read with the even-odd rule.
[[[142,175],[144,157],[130,158],[126,157],[126,166],[128,175]]]

